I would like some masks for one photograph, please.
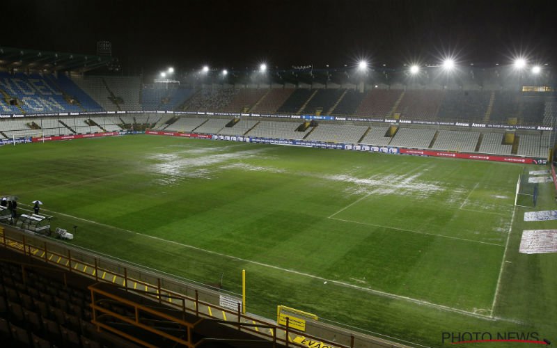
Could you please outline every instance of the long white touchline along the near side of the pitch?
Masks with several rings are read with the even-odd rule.
[[[182,244],[180,242],[175,242],[175,241],[171,241],[171,240],[168,240],[168,239],[162,239],[162,238],[151,236],[151,235],[145,235],[145,234],[140,233],[140,232],[136,232],[136,231],[132,231],[132,230],[126,230],[125,228],[118,228],[118,227],[115,227],[115,226],[106,225],[104,223],[100,223],[100,222],[92,221],[92,220],[88,220],[88,219],[83,219],[83,218],[80,218],[80,217],[77,217],[77,216],[72,216],[72,215],[63,214],[63,213],[59,213],[59,212],[54,212],[52,210],[47,210],[47,209],[42,209],[42,210],[44,210],[45,212],[56,213],[56,214],[59,214],[59,215],[62,215],[62,216],[68,216],[72,219],[86,221],[88,223],[93,223],[93,224],[98,225],[98,226],[104,226],[104,227],[113,228],[113,229],[116,229],[116,230],[121,230],[121,231],[124,231],[124,232],[132,233],[134,235],[139,235],[141,237],[156,239],[160,242],[175,244],[175,245],[178,245],[178,246],[183,246],[185,248],[191,248],[191,249],[194,249],[194,250],[197,250],[197,251],[203,251],[205,253],[210,253],[210,254],[213,254],[213,255],[219,255],[219,256],[222,256],[224,258],[230,258],[230,259],[241,261],[241,262],[248,262],[248,263],[251,263],[251,264],[257,264],[258,266],[261,266],[261,267],[276,269],[278,271],[284,271],[284,272],[288,272],[290,274],[297,274],[298,276],[305,276],[305,277],[312,278],[312,279],[327,281],[327,283],[334,283],[336,285],[340,285],[340,286],[343,286],[343,287],[350,287],[352,289],[356,289],[356,290],[360,290],[360,291],[364,291],[364,292],[369,292],[371,294],[376,294],[376,295],[387,297],[387,298],[390,298],[390,299],[400,299],[400,300],[408,301],[408,302],[411,302],[411,303],[416,303],[416,304],[421,305],[421,306],[428,306],[428,307],[436,308],[436,309],[439,309],[439,310],[446,310],[448,312],[460,313],[462,315],[469,315],[471,317],[477,317],[477,318],[481,318],[481,319],[494,320],[493,317],[489,317],[487,315],[476,314],[476,313],[473,313],[473,312],[469,312],[468,310],[462,310],[462,309],[459,309],[459,308],[444,306],[444,305],[440,305],[440,304],[437,304],[437,303],[432,303],[432,302],[429,302],[429,301],[413,299],[413,298],[407,297],[407,296],[391,294],[389,292],[382,292],[380,290],[368,289],[366,287],[359,287],[357,285],[344,283],[344,282],[341,282],[341,281],[338,281],[338,280],[327,279],[327,278],[323,278],[323,277],[320,277],[320,276],[314,276],[313,274],[307,274],[307,273],[304,273],[304,272],[301,272],[301,271],[295,271],[294,269],[285,269],[285,268],[282,268],[282,267],[274,266],[272,264],[265,264],[265,263],[262,263],[262,262],[247,260],[247,259],[244,259],[244,258],[238,258],[237,256],[226,255],[226,254],[223,254],[223,253],[217,253],[216,251],[210,251],[210,250],[206,250],[206,249],[203,249],[203,248],[198,248],[197,246],[191,246],[191,245],[188,245],[188,244]],[[96,251],[93,251],[93,252],[96,252]]]

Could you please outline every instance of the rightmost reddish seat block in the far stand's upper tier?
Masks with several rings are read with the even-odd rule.
[[[406,90],[395,112],[409,120],[432,120],[443,99],[441,90]]]

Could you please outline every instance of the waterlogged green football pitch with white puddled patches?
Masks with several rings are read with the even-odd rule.
[[[518,253],[522,230],[556,223],[514,206],[519,175],[545,167],[143,135],[0,158],[0,193],[42,200],[53,228],[78,226],[72,244],[237,293],[245,269],[251,313],[282,304],[413,346],[557,340],[556,255]],[[552,185],[535,209],[555,208]]]

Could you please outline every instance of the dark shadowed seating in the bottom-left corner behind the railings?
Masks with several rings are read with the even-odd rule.
[[[0,269],[0,339],[5,347],[138,347],[97,331],[88,307],[91,294],[74,278],[70,287],[55,280],[52,271],[26,267],[23,278],[16,264],[2,262]]]

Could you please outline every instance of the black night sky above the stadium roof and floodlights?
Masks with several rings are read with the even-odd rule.
[[[462,63],[557,58],[557,15],[535,0],[182,0],[13,1],[2,11],[0,45],[95,54],[113,44],[127,72],[173,65],[186,70]],[[3,6],[4,9],[7,6]],[[12,35],[6,35],[11,33]]]

